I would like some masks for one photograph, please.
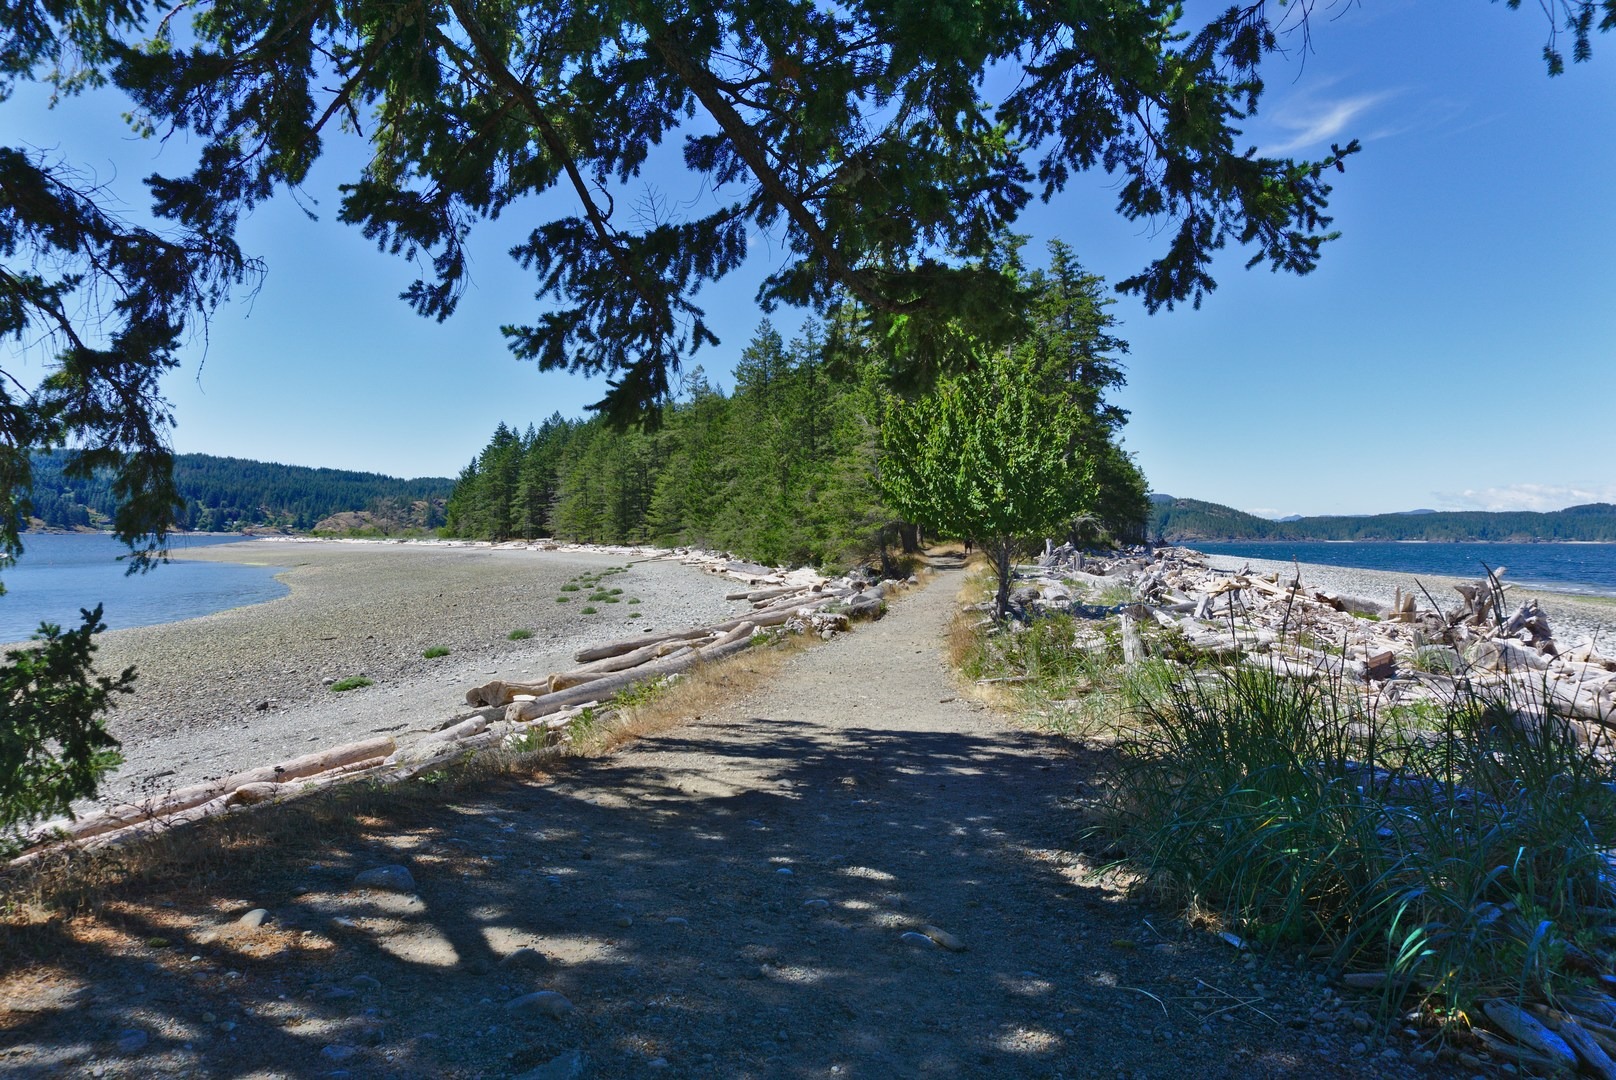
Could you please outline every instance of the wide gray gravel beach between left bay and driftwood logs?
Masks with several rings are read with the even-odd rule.
[[[378,732],[407,742],[464,713],[470,686],[541,677],[574,666],[572,653],[585,645],[747,610],[745,601],[724,600],[734,582],[630,555],[247,540],[178,558],[284,566],[280,577],[291,593],[100,637],[102,671],[139,669],[136,692],[112,721],[126,760],[102,786],[100,802],[162,794]],[[595,603],[598,613],[583,614],[588,593],[561,592],[574,576],[611,566],[630,566],[604,582],[624,590],[621,603]],[[562,595],[572,601],[558,603]],[[512,642],[514,629],[533,635]],[[431,647],[449,655],[422,658]],[[349,676],[375,686],[343,694],[326,687]]]

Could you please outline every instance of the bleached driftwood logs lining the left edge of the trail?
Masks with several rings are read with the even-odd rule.
[[[480,749],[564,742],[564,734],[553,732],[632,684],[672,677],[696,663],[732,656],[748,648],[755,635],[769,627],[829,639],[847,631],[853,618],[879,616],[886,597],[895,587],[895,582],[869,580],[856,574],[827,580],[806,569],[779,571],[692,548],[669,551],[549,542],[498,546],[680,559],[745,584],[745,589],[730,592],[727,598],[750,600],[751,611],[716,626],[585,648],[577,653],[580,668],[553,674],[543,682],[496,681],[473,687],[465,700],[478,707],[475,711],[454,716],[441,729],[404,747],[396,745],[391,737],[367,739],[73,821],[47,823],[24,837],[27,850],[10,865],[37,862],[63,847],[95,850],[128,844],[218,813],[289,799],[343,781],[365,778],[398,783]],[[827,610],[832,606],[834,611]]]

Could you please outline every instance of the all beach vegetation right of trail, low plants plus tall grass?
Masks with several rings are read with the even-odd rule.
[[[1522,726],[1508,695],[1462,682],[1378,705],[1324,676],[1191,668],[1151,626],[1130,666],[1113,626],[1012,632],[966,611],[950,656],[1025,723],[1104,749],[1086,842],[1139,891],[1438,1027],[1487,1001],[1601,993],[1616,768],[1569,721]],[[1406,663],[1451,676],[1462,658],[1425,645]]]

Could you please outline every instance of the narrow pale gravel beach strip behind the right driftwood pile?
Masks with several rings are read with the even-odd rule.
[[[1238,571],[1249,566],[1259,574],[1293,574],[1291,563],[1277,559],[1246,559],[1235,555],[1204,555],[1207,566],[1214,569]],[[1459,582],[1474,580],[1469,577],[1443,577],[1440,574],[1401,574],[1393,571],[1362,571],[1346,566],[1322,566],[1319,563],[1301,564],[1302,584],[1312,589],[1324,589],[1338,595],[1364,597],[1369,600],[1391,601],[1393,590],[1404,593],[1414,590],[1419,595],[1420,585],[1432,598],[1448,608],[1459,606],[1459,595],[1453,587]],[[1509,574],[1503,577],[1509,585]],[[1580,597],[1559,592],[1543,592],[1511,585],[1508,593],[1513,605],[1537,600],[1548,614],[1548,624],[1555,629],[1555,642],[1561,648],[1595,642],[1606,656],[1616,655],[1616,598]],[[1420,606],[1429,606],[1424,597]]]

